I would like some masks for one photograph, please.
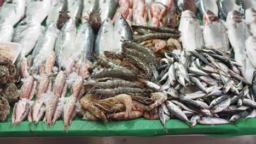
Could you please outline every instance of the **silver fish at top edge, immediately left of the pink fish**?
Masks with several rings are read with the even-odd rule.
[[[101,9],[101,20],[113,18],[115,10],[117,9],[117,2],[115,0],[100,0],[98,1],[98,7]]]

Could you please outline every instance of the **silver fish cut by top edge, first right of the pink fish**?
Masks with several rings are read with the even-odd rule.
[[[203,14],[205,14],[206,10],[212,11],[212,13],[216,16],[219,14],[217,0],[197,0],[196,5],[201,17],[203,17]]]

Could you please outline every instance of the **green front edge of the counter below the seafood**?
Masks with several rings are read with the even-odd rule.
[[[8,117],[10,121],[10,117]],[[48,128],[42,121],[36,125],[27,121],[10,126],[10,122],[0,123],[0,137],[20,136],[160,136],[181,134],[203,134],[210,136],[255,135],[256,118],[241,119],[237,124],[202,125],[190,128],[187,123],[178,119],[166,122],[164,131],[160,121],[144,118],[121,122],[89,122],[75,118],[68,131],[63,131],[63,121],[57,121]]]

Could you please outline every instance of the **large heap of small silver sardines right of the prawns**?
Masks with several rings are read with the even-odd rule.
[[[164,127],[165,121],[174,117],[188,122],[190,127],[255,117],[256,102],[249,94],[251,82],[236,73],[244,73],[241,67],[216,49],[182,51],[181,55],[166,52],[160,61],[158,84],[147,83],[153,91],[168,94],[168,100],[158,110]],[[255,80],[252,83],[255,85]],[[253,111],[248,114],[247,110]]]

